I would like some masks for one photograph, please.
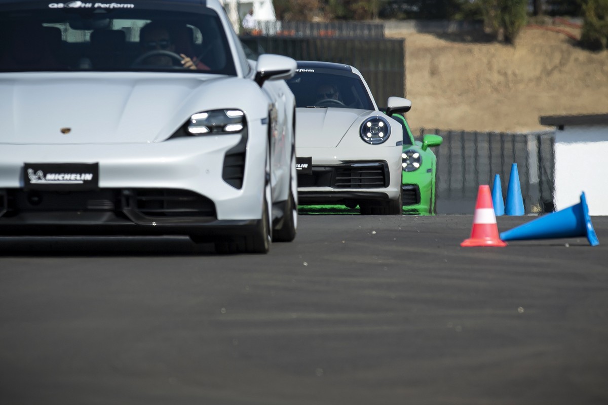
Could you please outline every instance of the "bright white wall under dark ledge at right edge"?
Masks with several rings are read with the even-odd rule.
[[[555,208],[581,202],[590,215],[608,215],[608,126],[566,125],[555,132]]]

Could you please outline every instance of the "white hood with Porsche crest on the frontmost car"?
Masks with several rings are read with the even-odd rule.
[[[217,82],[228,80],[239,79],[183,73],[3,75],[0,143],[161,141],[198,112],[195,106],[206,104],[196,89],[209,89],[206,97],[213,99]]]

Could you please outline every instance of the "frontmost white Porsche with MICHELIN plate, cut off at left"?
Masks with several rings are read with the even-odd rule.
[[[0,235],[294,239],[296,63],[217,0],[2,0],[0,38]]]

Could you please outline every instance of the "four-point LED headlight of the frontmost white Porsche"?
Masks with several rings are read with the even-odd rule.
[[[241,110],[213,110],[193,114],[186,126],[189,135],[218,135],[241,132],[247,125]]]

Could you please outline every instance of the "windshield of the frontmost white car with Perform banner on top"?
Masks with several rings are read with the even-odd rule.
[[[80,1],[47,3],[38,9],[32,9],[32,3],[0,5],[0,72],[236,75],[224,29],[213,10],[201,5],[196,13],[133,4],[86,5]]]

